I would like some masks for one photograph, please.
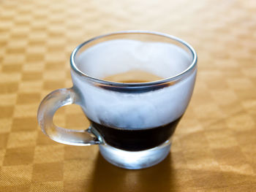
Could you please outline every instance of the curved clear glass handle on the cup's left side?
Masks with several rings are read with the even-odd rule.
[[[37,119],[44,134],[56,142],[68,145],[102,144],[102,140],[96,136],[98,133],[92,130],[91,127],[80,131],[61,128],[53,123],[53,116],[56,110],[67,104],[79,104],[79,97],[73,88],[58,89],[45,96],[37,112]]]

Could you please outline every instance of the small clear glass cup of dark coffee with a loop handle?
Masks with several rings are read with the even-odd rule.
[[[107,161],[126,169],[142,169],[162,161],[192,96],[197,71],[195,50],[167,34],[123,31],[84,42],[73,51],[70,62],[74,86],[67,93],[70,101],[66,96],[66,103],[61,106],[79,104],[91,126],[84,131],[86,139],[82,132],[70,136],[71,131],[57,127],[52,129],[58,134],[62,130],[61,134],[51,137],[52,133],[42,128],[45,134],[71,145],[99,144]],[[161,79],[103,80],[133,71]],[[41,116],[44,115],[39,115],[39,123],[44,127]],[[88,133],[94,139],[90,140]]]

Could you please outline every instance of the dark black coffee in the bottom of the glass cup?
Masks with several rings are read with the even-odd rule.
[[[164,126],[133,130],[113,128],[90,121],[91,126],[99,131],[99,134],[102,135],[108,145],[121,150],[139,151],[157,147],[169,139],[173,135],[180,119],[178,118]]]

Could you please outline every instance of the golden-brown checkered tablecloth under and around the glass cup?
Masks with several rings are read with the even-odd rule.
[[[0,3],[0,191],[256,191],[256,3],[254,0],[56,0]],[[37,107],[72,86],[69,55],[99,34],[172,34],[198,53],[192,101],[157,166],[125,170],[97,146],[51,141]],[[78,106],[59,126],[83,129]]]

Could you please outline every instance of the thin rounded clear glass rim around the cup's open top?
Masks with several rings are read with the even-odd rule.
[[[112,82],[112,81],[107,81],[107,80],[101,80],[96,77],[91,77],[90,75],[85,74],[84,72],[80,71],[80,69],[78,69],[78,66],[76,66],[76,64],[75,64],[75,55],[78,53],[78,50],[80,50],[81,47],[83,47],[84,45],[86,45],[89,42],[92,42],[96,39],[100,39],[103,37],[108,37],[108,36],[112,36],[112,35],[116,35],[116,34],[154,34],[157,36],[162,36],[162,37],[167,37],[169,39],[173,39],[177,42],[180,42],[185,47],[189,48],[190,52],[192,53],[193,60],[192,60],[191,64],[187,67],[187,69],[185,69],[183,72],[176,74],[174,76],[171,76],[171,77],[164,78],[162,80],[151,81],[151,82]],[[187,74],[193,72],[195,70],[196,64],[197,64],[197,53],[195,52],[194,48],[191,45],[189,45],[189,43],[185,42],[182,39],[179,39],[178,37],[174,37],[172,35],[164,34],[164,33],[157,32],[157,31],[130,30],[130,31],[117,31],[117,32],[109,33],[109,34],[99,35],[99,36],[91,38],[91,39],[87,40],[86,42],[83,42],[80,45],[78,45],[77,47],[75,47],[75,50],[73,50],[72,54],[70,55],[71,68],[74,70],[75,73],[79,74],[80,77],[85,77],[88,80],[97,82],[102,85],[110,85],[110,86],[118,86],[118,87],[145,87],[145,86],[151,86],[151,85],[160,85],[160,84],[167,83],[167,82],[177,82],[179,80],[182,80],[184,77],[186,77]]]

